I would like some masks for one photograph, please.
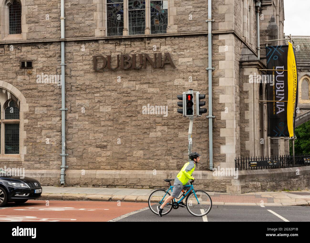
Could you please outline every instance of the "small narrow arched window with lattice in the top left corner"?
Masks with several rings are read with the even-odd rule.
[[[9,5],[9,34],[21,33],[21,5],[13,1]]]

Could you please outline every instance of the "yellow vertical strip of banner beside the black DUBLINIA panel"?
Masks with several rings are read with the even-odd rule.
[[[287,102],[287,128],[290,137],[294,136],[293,117],[295,111],[296,90],[297,90],[297,70],[296,60],[292,43],[289,42],[287,52],[287,86],[288,86],[288,102]]]

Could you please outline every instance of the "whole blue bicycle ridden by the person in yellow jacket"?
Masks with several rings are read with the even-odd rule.
[[[165,179],[165,182],[169,182],[169,188],[168,190],[164,189],[157,189],[151,193],[151,195],[148,198],[148,207],[151,209],[151,211],[154,214],[157,214],[157,205],[162,205],[164,201],[170,196],[169,191],[173,189],[173,186],[171,186],[171,181],[174,181],[172,179]],[[205,216],[208,214],[212,208],[212,200],[211,197],[206,193],[205,191],[201,190],[195,190],[193,181],[190,182],[191,185],[185,186],[184,190],[188,189],[188,187],[191,188],[191,190],[188,190],[184,194],[184,190],[182,190],[181,196],[179,196],[176,199],[180,199],[179,201],[176,201],[175,199],[172,199],[171,202],[167,203],[167,205],[164,207],[162,211],[162,215],[168,214],[172,209],[178,209],[179,206],[184,207],[182,205],[179,205],[180,202],[186,197],[186,208],[190,214],[193,214],[194,216]],[[182,198],[181,198],[182,197]]]

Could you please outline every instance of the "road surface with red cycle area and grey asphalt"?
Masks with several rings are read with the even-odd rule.
[[[160,217],[147,203],[101,201],[29,200],[0,208],[0,222],[309,222],[308,206],[213,205],[204,217],[191,215],[186,208],[172,209]]]

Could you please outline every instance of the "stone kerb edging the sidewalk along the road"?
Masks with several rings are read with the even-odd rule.
[[[124,201],[124,202],[148,202],[148,196],[126,196],[126,195],[87,195],[71,193],[42,193],[41,197],[35,200],[71,200],[71,201]],[[213,202],[213,205],[248,205],[260,206],[261,203],[241,202]],[[296,201],[283,203],[264,203],[264,206],[310,206],[310,201]]]

